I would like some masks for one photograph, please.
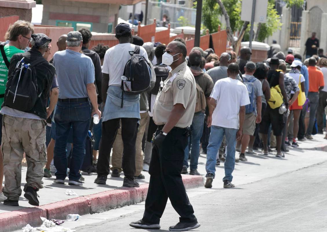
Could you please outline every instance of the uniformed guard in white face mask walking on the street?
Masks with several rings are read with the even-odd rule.
[[[143,218],[129,224],[134,228],[160,229],[168,197],[180,215],[180,222],[169,230],[186,231],[200,226],[181,178],[196,105],[196,83],[186,66],[186,55],[185,45],[178,41],[170,42],[163,54],[163,64],[172,70],[162,83],[153,107],[153,121],[158,129],[153,139],[150,183]]]

